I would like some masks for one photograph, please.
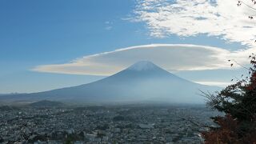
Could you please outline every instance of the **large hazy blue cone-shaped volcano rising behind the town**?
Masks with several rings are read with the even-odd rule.
[[[14,94],[0,97],[0,100],[202,103],[204,98],[199,95],[199,90],[214,91],[219,88],[190,82],[152,62],[142,61],[97,82],[33,94]]]

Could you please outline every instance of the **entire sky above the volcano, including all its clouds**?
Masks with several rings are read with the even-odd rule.
[[[247,2],[247,1],[246,1]],[[250,2],[250,1],[248,1]],[[0,94],[95,81],[150,60],[225,86],[254,52],[256,28],[233,0],[1,0]]]

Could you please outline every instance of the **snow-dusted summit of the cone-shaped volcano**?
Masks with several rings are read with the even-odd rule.
[[[139,61],[134,63],[132,66],[128,67],[128,70],[137,70],[137,71],[141,71],[141,70],[152,70],[155,69],[156,66],[153,62],[150,61]]]

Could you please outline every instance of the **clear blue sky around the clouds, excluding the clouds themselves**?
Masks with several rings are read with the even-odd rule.
[[[181,31],[184,31],[184,28],[177,26],[178,29],[175,30],[173,27],[175,23],[172,24],[175,20],[183,22],[183,19],[173,18],[169,21],[169,16],[166,17],[162,11],[158,11],[158,8],[153,6],[154,3],[146,3],[152,9],[147,10],[143,7],[145,6],[142,5],[143,2],[145,4],[146,0],[2,0],[0,2],[0,94],[29,93],[93,82],[103,76],[99,74],[95,76],[94,71],[90,71],[90,74],[62,74],[60,71],[52,73],[53,70],[42,70],[44,67],[40,70],[34,69],[38,66],[55,66],[79,61],[79,58],[91,54],[102,54],[130,46],[155,43],[213,46],[229,50],[230,53],[227,54],[231,54],[231,57],[236,57],[232,53],[235,50],[250,49],[250,44],[246,40],[232,37],[236,33],[226,28],[220,29],[222,33],[216,33],[211,30],[212,27],[204,31],[199,29],[195,31],[192,27],[194,31],[191,31],[192,28],[188,26],[183,36]],[[222,5],[222,3],[218,4]],[[162,5],[162,8],[167,6],[172,5],[171,3]],[[161,22],[158,22],[159,18],[154,18],[152,11],[162,16],[161,22],[169,22],[171,26],[155,24]],[[177,12],[178,14],[180,13]],[[250,36],[247,35],[246,38]],[[126,53],[122,54],[122,57],[126,56]],[[126,65],[118,67],[116,72],[132,64],[125,63]],[[163,68],[166,69],[171,67],[166,62],[158,63],[160,65],[162,63],[162,66],[166,66]],[[223,66],[214,70],[170,71],[194,82],[230,82],[233,76],[242,73],[240,69],[230,70]]]

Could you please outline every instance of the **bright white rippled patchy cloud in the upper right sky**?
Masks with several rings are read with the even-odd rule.
[[[145,22],[154,37],[168,34],[220,36],[227,42],[256,46],[255,10],[234,0],[137,0],[133,22]],[[244,0],[248,5],[250,0]],[[250,5],[253,6],[253,5]],[[253,6],[254,7],[254,6]],[[254,49],[255,50],[255,49]]]

